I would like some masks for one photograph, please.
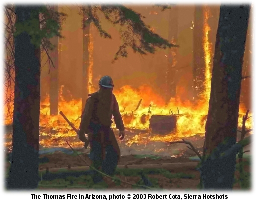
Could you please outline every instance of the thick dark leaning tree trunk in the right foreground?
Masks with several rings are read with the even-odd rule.
[[[239,97],[250,7],[220,7],[205,127],[201,175],[204,189],[232,189]],[[209,157],[208,157],[209,156]],[[205,155],[204,155],[205,157]]]

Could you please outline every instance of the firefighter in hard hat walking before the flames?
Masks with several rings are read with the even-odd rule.
[[[113,94],[113,80],[110,76],[103,76],[99,80],[99,90],[89,94],[79,127],[79,139],[85,142],[85,133],[90,143],[90,159],[92,166],[102,169],[102,172],[112,175],[120,158],[120,148],[111,128],[112,116],[119,139],[125,136],[124,124],[119,106]],[[102,181],[100,174],[94,175],[94,182]]]

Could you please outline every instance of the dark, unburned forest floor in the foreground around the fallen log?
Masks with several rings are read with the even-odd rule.
[[[88,161],[87,154],[83,154],[81,157]],[[48,155],[47,158],[49,159],[49,162],[41,164],[39,167],[42,172],[45,172],[44,170],[46,170],[46,167],[49,168],[49,172],[52,171],[53,174],[60,172],[78,172],[82,170],[88,170],[88,168],[85,168],[86,164],[81,160],[79,156],[55,153]],[[67,164],[71,166],[70,169],[59,169],[59,167],[67,167]],[[153,164],[156,164],[157,166],[152,166]],[[158,165],[160,166],[160,164],[162,164],[161,168],[157,168]],[[90,175],[81,175],[77,178],[68,177],[66,179],[56,179],[53,181],[41,181],[39,188],[132,189],[136,188],[136,186],[131,184],[144,185],[140,176],[140,172],[143,171],[149,181],[152,183],[153,187],[164,189],[192,190],[197,189],[197,185],[200,182],[200,173],[196,170],[196,165],[197,163],[191,161],[189,158],[158,158],[156,156],[149,155],[122,156],[119,161],[119,168],[116,171],[116,177],[130,184],[123,182],[118,183],[110,178],[104,177],[104,182],[95,185]],[[82,167],[73,168],[79,166]],[[250,172],[250,167],[246,165],[244,170],[246,172]],[[238,171],[235,172],[235,177],[239,178]],[[240,189],[238,183],[234,185],[234,189]]]

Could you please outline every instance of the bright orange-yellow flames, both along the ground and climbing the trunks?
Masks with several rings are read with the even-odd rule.
[[[195,106],[190,101],[181,101],[181,98],[177,95],[175,98],[171,98],[170,102],[166,106],[165,100],[162,96],[153,92],[153,89],[149,86],[142,85],[135,89],[131,86],[123,86],[120,89],[114,89],[114,94],[116,95],[117,101],[119,103],[120,111],[124,120],[125,127],[127,128],[137,128],[137,129],[148,129],[149,119],[152,115],[171,115],[171,111],[177,115],[176,129],[174,132],[168,135],[155,134],[154,136],[149,133],[138,134],[134,137],[127,136],[126,145],[131,145],[133,143],[137,144],[147,144],[150,141],[174,141],[179,137],[188,137],[195,134],[204,135],[205,133],[205,123],[206,115],[208,112],[208,104],[210,97],[210,87],[211,87],[211,44],[209,42],[208,33],[210,27],[208,25],[209,11],[205,8],[204,12],[204,38],[203,38],[203,49],[204,49],[204,60],[205,60],[205,90],[204,90],[204,100],[200,102],[200,105]],[[92,29],[92,28],[91,28]],[[89,82],[92,83],[92,67],[93,67],[93,38],[92,32],[90,31],[90,44],[89,44]],[[89,92],[95,90],[93,86],[89,85]],[[74,124],[76,128],[79,127],[81,114],[81,99],[72,99],[71,101],[66,101],[62,95],[63,86],[59,92],[59,105],[58,110],[62,111],[67,118]],[[183,90],[182,86],[178,86],[177,91]],[[9,97],[9,91],[5,98]],[[135,110],[140,99],[142,102],[139,108]],[[13,102],[12,102],[13,103]],[[151,106],[151,107],[150,107]],[[133,112],[134,111],[134,112]],[[240,103],[239,108],[239,123],[238,127],[242,126],[242,116],[245,114],[246,108]],[[5,115],[7,110],[5,109]],[[249,116],[251,116],[250,113]],[[144,117],[144,118],[142,118]],[[5,124],[11,124],[12,120],[5,120]],[[246,128],[252,128],[253,120],[248,119],[246,122]],[[65,141],[69,140],[70,144],[74,147],[82,146],[82,142],[78,142],[75,131],[73,131],[67,122],[60,116],[50,115],[50,102],[49,96],[41,101],[40,109],[40,145],[45,146],[67,146]],[[113,128],[115,125],[113,124]],[[11,139],[11,135],[6,135],[5,138]],[[77,140],[77,141],[76,141]],[[72,142],[71,142],[72,141]],[[5,143],[6,146],[10,145],[10,142]]]

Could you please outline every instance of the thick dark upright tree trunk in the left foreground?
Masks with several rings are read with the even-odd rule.
[[[38,7],[16,6],[16,21],[29,20]],[[39,21],[38,16],[33,20]],[[40,48],[23,32],[15,37],[15,96],[9,189],[33,189],[38,184]]]

